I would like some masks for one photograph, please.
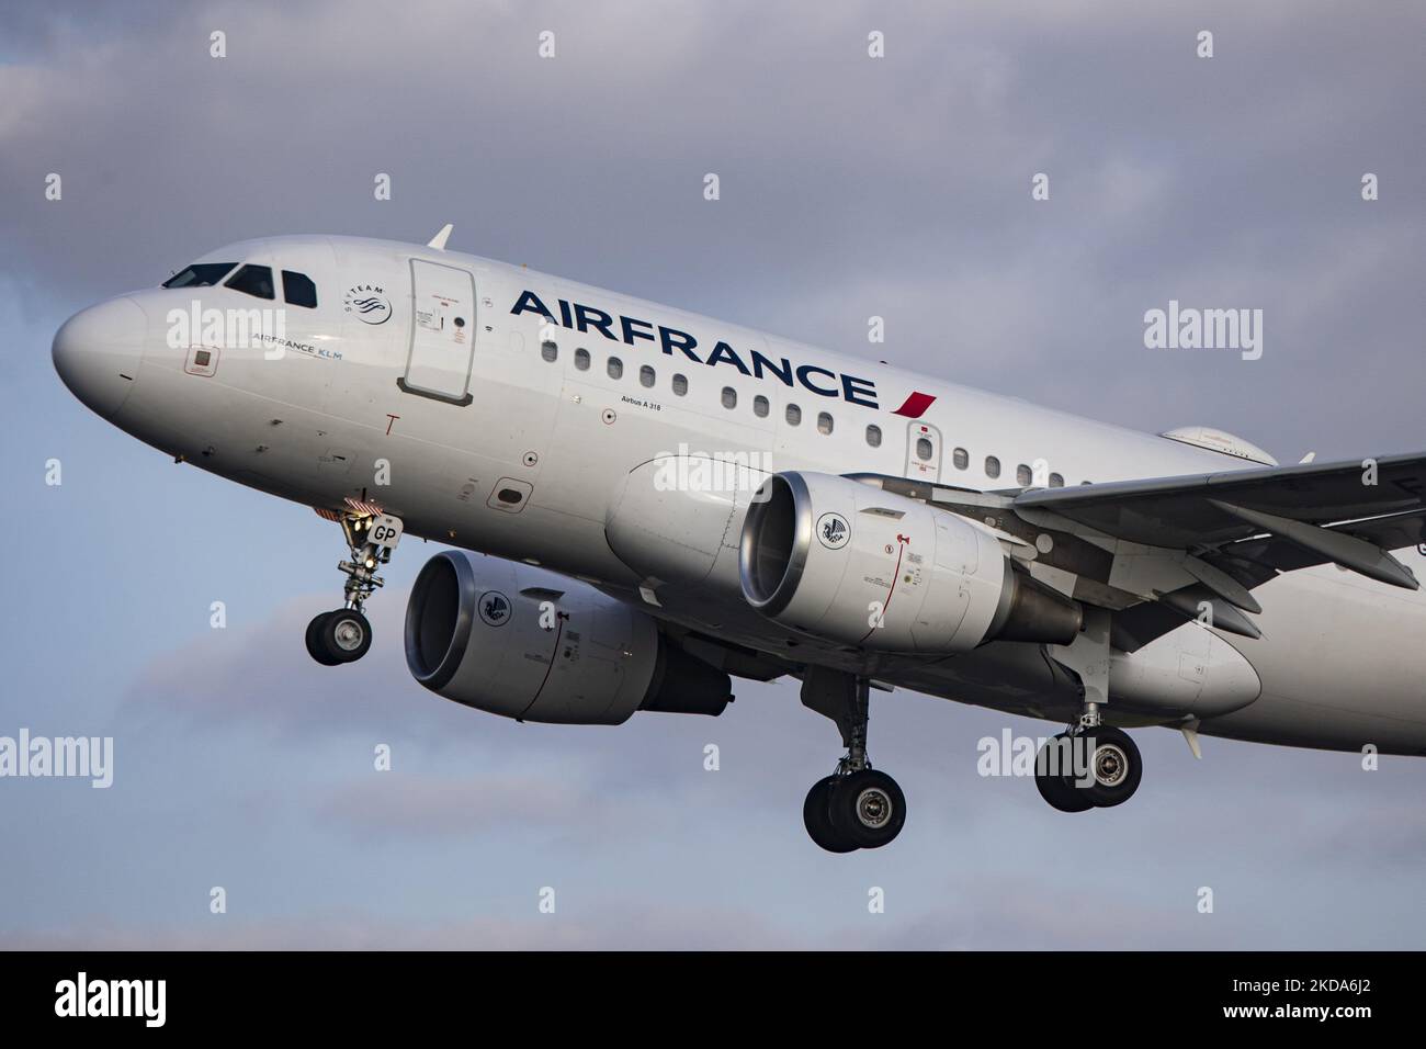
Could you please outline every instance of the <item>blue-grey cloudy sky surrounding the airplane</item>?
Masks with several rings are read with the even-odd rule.
[[[48,347],[228,241],[451,221],[455,248],[1114,422],[1416,451],[1423,30],[1286,1],[7,4],[0,735],[110,735],[116,769],[0,781],[0,945],[1420,948],[1426,762],[1195,762],[1144,731],[1135,799],[1065,816],[975,772],[981,736],[1048,726],[898,691],[871,744],[907,829],[830,856],[800,806],[836,731],[787,684],[616,729],[443,702],[401,657],[414,547],[371,655],[319,668],[335,528],[108,427]],[[1262,358],[1147,350],[1169,300],[1263,310]]]

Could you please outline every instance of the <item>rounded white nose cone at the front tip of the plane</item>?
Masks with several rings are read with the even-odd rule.
[[[54,333],[54,370],[84,404],[113,418],[138,378],[148,317],[133,298],[80,310]]]

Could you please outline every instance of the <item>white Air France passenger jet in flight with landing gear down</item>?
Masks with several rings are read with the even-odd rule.
[[[436,695],[528,722],[719,715],[801,682],[844,755],[803,821],[881,848],[873,692],[1064,725],[1055,809],[1124,804],[1128,728],[1426,755],[1426,454],[1281,465],[426,245],[282,235],[81,310],[54,367],[133,437],[342,529],[324,665],[402,535]],[[1399,551],[1393,554],[1392,551]]]

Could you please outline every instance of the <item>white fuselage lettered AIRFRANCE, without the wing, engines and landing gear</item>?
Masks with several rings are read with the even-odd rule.
[[[195,301],[281,308],[281,293],[270,303],[224,287],[158,288],[121,308],[96,307],[107,313],[84,333],[113,340],[96,368],[133,374],[96,377],[96,392],[76,392],[135,437],[308,505],[379,502],[414,535],[579,577],[723,641],[1005,711],[1067,718],[1074,709],[1070,682],[1035,645],[994,642],[937,661],[819,647],[746,607],[729,549],[699,585],[647,578],[610,547],[625,478],[680,450],[968,490],[1258,465],[472,255],[289,237],[205,258],[307,274],[318,304],[282,310],[282,341],[224,347],[202,365],[193,357],[198,337],[168,338],[171,311]],[[144,318],[138,335],[117,330],[137,323],[133,304]],[[1420,572],[1417,551],[1400,557]],[[1184,721],[1182,709],[1159,711],[1155,676],[1139,671],[1182,675],[1185,661],[1231,647],[1261,694],[1228,714],[1205,706],[1202,732],[1426,754],[1426,595],[1326,565],[1281,575],[1255,597],[1261,639],[1188,624],[1134,658],[1117,657],[1124,686],[1111,679],[1111,696],[1129,696],[1124,719]]]

